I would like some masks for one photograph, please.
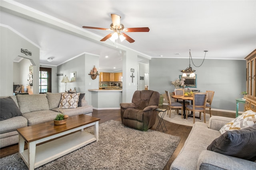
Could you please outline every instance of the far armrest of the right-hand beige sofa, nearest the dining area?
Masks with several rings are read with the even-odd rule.
[[[210,129],[219,131],[222,128],[222,126],[224,126],[226,123],[232,121],[233,119],[234,118],[230,118],[230,117],[212,116],[212,117],[210,117],[208,127]]]

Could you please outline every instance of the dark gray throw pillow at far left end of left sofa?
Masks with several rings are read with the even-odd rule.
[[[0,121],[20,115],[22,113],[11,97],[0,98]]]

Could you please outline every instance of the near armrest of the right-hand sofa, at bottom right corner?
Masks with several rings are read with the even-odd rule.
[[[203,150],[198,158],[198,170],[255,170],[256,162]]]

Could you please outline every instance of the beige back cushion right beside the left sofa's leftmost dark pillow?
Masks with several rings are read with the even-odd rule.
[[[22,114],[31,111],[49,110],[46,94],[18,95],[17,100]]]

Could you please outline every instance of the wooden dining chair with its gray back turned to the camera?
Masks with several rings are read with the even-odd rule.
[[[205,108],[206,108],[206,101],[207,101],[207,93],[194,93],[193,94],[193,104],[186,105],[186,119],[188,119],[188,111],[193,111],[193,119],[195,123],[195,112],[199,112],[199,117],[201,120],[201,113],[204,113],[204,123],[205,120]]]

